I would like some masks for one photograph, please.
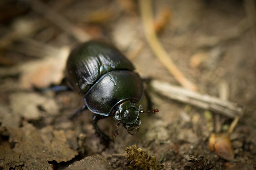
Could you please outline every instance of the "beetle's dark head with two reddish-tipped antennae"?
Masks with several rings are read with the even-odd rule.
[[[146,113],[146,112],[152,112],[156,113],[159,112],[158,109],[155,109],[154,111],[141,111],[141,106],[138,105],[137,102],[132,101],[125,101],[119,106],[117,106],[115,110],[114,119],[119,120],[117,124],[117,129],[114,134],[114,138],[116,135],[118,135],[118,127],[120,123],[123,124],[124,128],[128,131],[129,134],[133,135],[131,131],[135,131],[135,133],[138,132],[141,120],[139,117],[140,113]]]

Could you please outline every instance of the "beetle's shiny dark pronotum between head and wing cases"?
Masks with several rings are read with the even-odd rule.
[[[114,70],[103,75],[85,94],[85,104],[93,113],[108,116],[125,100],[140,101],[143,85],[139,75],[128,70]]]

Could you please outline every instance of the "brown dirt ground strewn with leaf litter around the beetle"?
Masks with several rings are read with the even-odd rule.
[[[160,112],[141,115],[134,136],[120,126],[106,147],[95,134],[92,112],[85,110],[69,120],[83,105],[83,96],[49,87],[65,85],[70,49],[89,39],[112,42],[143,79],[182,86],[149,45],[141,10],[135,0],[0,2],[0,169],[61,170],[85,157],[88,167],[104,165],[98,169],[150,169],[127,161],[125,148],[133,144],[155,156],[166,170],[256,168],[254,0],[152,4],[158,39],[197,87],[195,92],[237,103],[243,108],[239,117],[177,101],[145,82],[152,108]],[[142,103],[147,108],[145,99]],[[113,136],[113,117],[98,124]],[[92,155],[100,159],[95,164],[86,162]]]

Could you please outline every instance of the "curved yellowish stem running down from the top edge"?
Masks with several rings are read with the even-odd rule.
[[[163,46],[158,40],[153,24],[152,14],[152,1],[151,0],[140,0],[140,11],[142,16],[143,28],[146,34],[147,41],[154,51],[155,55],[162,62],[162,64],[168,69],[168,71],[175,77],[175,79],[184,87],[196,91],[197,87],[190,82],[181,71],[174,64],[168,53],[165,51]]]

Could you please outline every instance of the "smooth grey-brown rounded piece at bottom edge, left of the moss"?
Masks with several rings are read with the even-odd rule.
[[[87,156],[66,167],[64,170],[113,170],[112,166],[98,155]]]

